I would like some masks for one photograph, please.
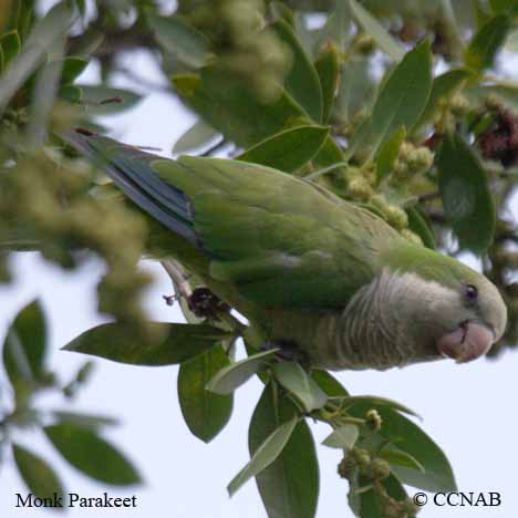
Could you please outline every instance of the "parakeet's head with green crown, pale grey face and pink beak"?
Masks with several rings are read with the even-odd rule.
[[[416,341],[426,340],[428,354],[469,362],[486,354],[503,336],[507,308],[498,289],[483,274],[416,246],[403,251],[397,269],[417,280],[408,297],[408,305],[416,307],[408,311],[415,318],[410,325]]]

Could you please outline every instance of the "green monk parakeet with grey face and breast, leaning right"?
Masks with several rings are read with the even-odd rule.
[[[238,160],[165,159],[83,130],[63,138],[146,214],[154,257],[179,261],[312,367],[468,362],[504,334],[488,279],[320,185]]]

